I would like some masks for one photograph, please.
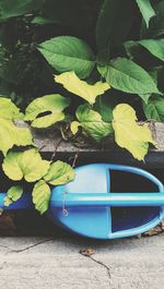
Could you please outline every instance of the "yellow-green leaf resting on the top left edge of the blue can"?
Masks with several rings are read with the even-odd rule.
[[[44,179],[46,182],[52,185],[65,184],[74,179],[74,170],[70,165],[57,160],[50,165],[49,170]]]

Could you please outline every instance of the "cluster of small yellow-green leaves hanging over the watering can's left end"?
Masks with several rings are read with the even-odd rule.
[[[34,148],[25,152],[10,152],[4,158],[2,168],[9,179],[13,181],[24,179],[35,183],[32,190],[33,203],[40,214],[44,214],[49,206],[51,195],[49,184],[63,184],[74,178],[74,171],[70,165],[59,160],[50,164],[50,161],[42,159],[39,153]],[[22,185],[11,186],[7,192],[4,205],[9,206],[16,202],[22,193]]]

